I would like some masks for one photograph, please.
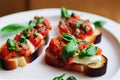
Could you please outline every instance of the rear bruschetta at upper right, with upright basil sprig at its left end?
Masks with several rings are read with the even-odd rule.
[[[79,15],[72,13],[68,14],[66,8],[61,8],[61,19],[58,23],[58,29],[60,34],[69,33],[76,38],[86,40],[90,43],[99,43],[101,41],[102,26],[96,25],[100,21],[91,23],[89,20],[82,19]]]

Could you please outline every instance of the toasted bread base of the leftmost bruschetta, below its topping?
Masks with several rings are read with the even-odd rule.
[[[30,63],[34,61],[41,53],[44,48],[45,43],[42,43],[34,53],[30,56],[18,56],[15,58],[11,58],[8,60],[0,59],[1,60],[1,65],[3,69],[5,70],[13,70],[16,69],[17,67],[24,67],[27,65],[27,63]]]

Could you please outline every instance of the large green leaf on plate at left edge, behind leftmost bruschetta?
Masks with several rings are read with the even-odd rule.
[[[2,29],[0,29],[0,35],[2,37],[10,36],[16,33],[21,32],[22,30],[25,29],[25,26],[21,24],[9,24]]]

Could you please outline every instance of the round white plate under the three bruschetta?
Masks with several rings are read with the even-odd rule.
[[[71,13],[72,10],[69,10]],[[83,73],[66,71],[56,67],[49,66],[44,61],[45,47],[42,55],[40,55],[34,62],[28,64],[25,67],[19,67],[15,70],[6,71],[0,68],[0,79],[1,80],[52,80],[54,77],[66,73],[66,76],[75,76],[78,80],[89,79],[89,80],[103,80],[114,78],[120,67],[120,26],[107,18],[85,13],[73,11],[80,15],[81,18],[89,19],[90,21],[105,20],[107,23],[103,29],[102,41],[98,44],[103,49],[103,54],[108,58],[107,73],[101,77],[87,77]],[[20,12],[4,16],[0,18],[0,28],[10,23],[26,24],[29,20],[33,19],[35,15],[47,17],[52,25],[53,30],[50,31],[50,38],[57,36],[58,29],[57,24],[60,19],[60,9],[41,9],[27,12]],[[4,43],[6,39],[0,39],[0,43]],[[1,46],[1,45],[0,45]],[[119,71],[120,72],[120,71]],[[119,74],[117,73],[117,75]]]

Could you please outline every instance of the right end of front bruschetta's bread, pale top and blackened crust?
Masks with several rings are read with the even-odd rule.
[[[106,70],[107,58],[104,55],[102,55],[101,62],[92,63],[85,66],[85,74],[91,77],[104,75]]]

